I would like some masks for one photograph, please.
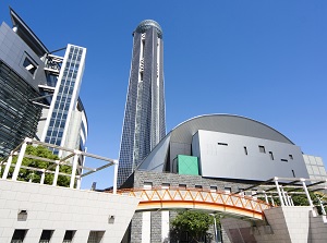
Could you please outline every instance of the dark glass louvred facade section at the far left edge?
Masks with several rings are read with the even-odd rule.
[[[34,137],[41,108],[32,102],[39,94],[0,60],[0,157],[25,137]]]

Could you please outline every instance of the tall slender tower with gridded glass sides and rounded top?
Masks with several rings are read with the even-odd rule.
[[[161,27],[155,21],[142,21],[133,32],[133,37],[118,185],[128,179],[166,135]]]

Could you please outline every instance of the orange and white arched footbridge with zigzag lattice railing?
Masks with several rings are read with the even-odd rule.
[[[251,196],[186,189],[129,189],[117,194],[141,198],[136,211],[167,209],[197,209],[233,215],[241,218],[263,219],[264,210],[271,207]]]

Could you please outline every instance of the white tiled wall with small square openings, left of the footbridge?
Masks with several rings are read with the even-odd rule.
[[[38,242],[43,230],[53,230],[51,243],[62,242],[66,230],[75,231],[75,243],[86,243],[90,231],[105,232],[101,243],[119,243],[137,204],[134,197],[0,180],[0,242],[26,229],[24,243]]]

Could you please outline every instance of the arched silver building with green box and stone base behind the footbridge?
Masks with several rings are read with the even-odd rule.
[[[207,114],[170,131],[121,189],[190,189],[254,196],[255,185],[274,184],[276,177],[287,180],[281,183],[312,178],[308,168],[320,171],[315,180],[326,181],[322,158],[303,155],[269,125],[240,116]],[[168,241],[175,215],[173,208],[135,212],[125,242],[128,235],[129,242]],[[223,242],[230,242],[230,236],[222,235]]]

